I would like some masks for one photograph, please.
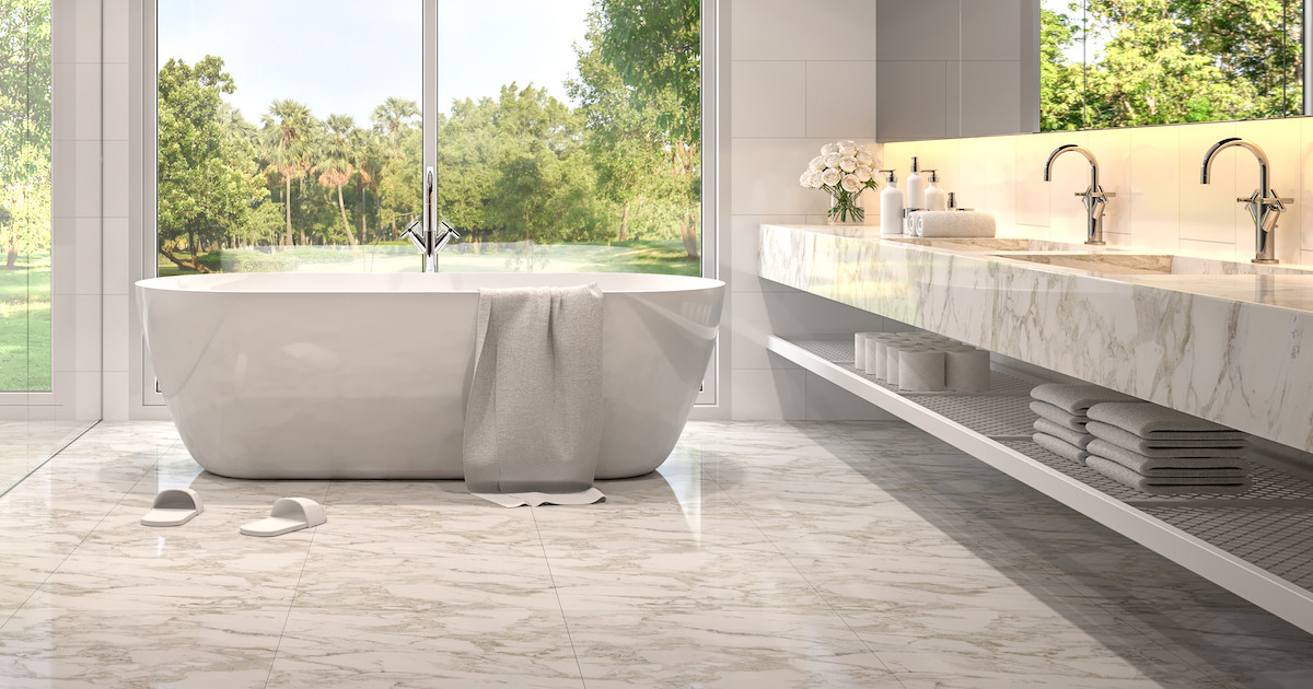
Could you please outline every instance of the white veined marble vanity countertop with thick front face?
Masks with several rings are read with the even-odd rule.
[[[760,232],[767,280],[1313,451],[1313,273],[1107,274],[867,228]]]

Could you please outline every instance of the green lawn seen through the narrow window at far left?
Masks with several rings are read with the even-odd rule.
[[[0,391],[50,390],[50,255],[0,269]]]

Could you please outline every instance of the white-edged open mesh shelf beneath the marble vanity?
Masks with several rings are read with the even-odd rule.
[[[1253,458],[1238,496],[1155,496],[1040,448],[1029,436],[1035,382],[993,371],[987,394],[901,392],[852,366],[852,336],[767,348],[1313,633],[1313,482]]]

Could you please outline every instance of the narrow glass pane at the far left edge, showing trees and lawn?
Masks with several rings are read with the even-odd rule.
[[[0,0],[0,391],[50,390],[50,1]]]

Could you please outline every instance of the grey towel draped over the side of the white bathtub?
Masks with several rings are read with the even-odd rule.
[[[601,449],[596,283],[481,289],[465,484],[503,507],[591,504]]]

